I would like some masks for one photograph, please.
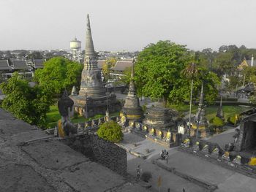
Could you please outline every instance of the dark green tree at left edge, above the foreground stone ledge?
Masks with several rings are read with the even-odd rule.
[[[32,125],[45,126],[46,112],[52,101],[39,85],[31,88],[29,82],[21,80],[15,72],[7,82],[1,83],[0,88],[6,95],[1,103],[4,110]]]

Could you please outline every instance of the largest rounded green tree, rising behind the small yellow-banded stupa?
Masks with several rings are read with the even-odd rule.
[[[135,82],[138,94],[158,99],[167,104],[181,78],[181,70],[189,63],[189,54],[184,45],[170,41],[159,41],[150,44],[138,55],[135,64]]]

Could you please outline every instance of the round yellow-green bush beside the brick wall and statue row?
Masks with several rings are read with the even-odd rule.
[[[113,120],[100,125],[97,134],[100,138],[110,142],[120,142],[124,137],[124,134],[121,131],[121,126]]]

